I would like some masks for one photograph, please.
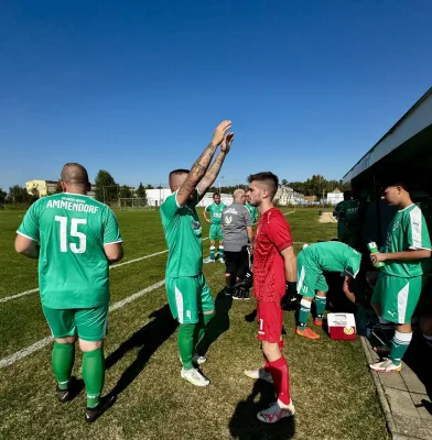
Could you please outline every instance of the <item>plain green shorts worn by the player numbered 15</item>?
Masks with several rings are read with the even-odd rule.
[[[108,304],[88,309],[52,309],[42,306],[54,338],[78,336],[84,341],[101,341],[108,331]]]

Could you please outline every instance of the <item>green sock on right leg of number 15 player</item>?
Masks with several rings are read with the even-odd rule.
[[[87,408],[95,408],[100,402],[105,381],[104,349],[83,354],[83,378],[87,389]]]

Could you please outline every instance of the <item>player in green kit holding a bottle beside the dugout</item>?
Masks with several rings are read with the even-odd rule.
[[[414,205],[404,183],[386,186],[382,197],[398,207],[391,221],[384,253],[371,254],[374,265],[384,262],[374,288],[371,306],[381,322],[397,324],[389,359],[370,364],[378,373],[401,370],[401,361],[412,339],[411,318],[422,289],[421,262],[431,256],[431,240],[421,209]]]

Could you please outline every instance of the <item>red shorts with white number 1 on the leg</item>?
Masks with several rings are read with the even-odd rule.
[[[267,342],[278,342],[282,336],[283,311],[281,304],[258,301],[258,339]]]

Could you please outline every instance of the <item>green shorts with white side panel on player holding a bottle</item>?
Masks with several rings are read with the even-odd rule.
[[[382,318],[396,323],[410,323],[420,299],[422,276],[401,278],[380,273],[371,302],[381,307]]]

